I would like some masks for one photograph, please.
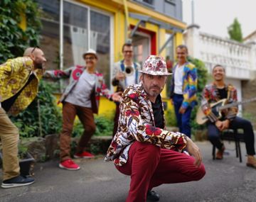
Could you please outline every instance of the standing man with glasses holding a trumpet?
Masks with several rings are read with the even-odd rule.
[[[123,60],[114,63],[112,77],[112,85],[117,86],[117,91],[124,91],[127,86],[139,83],[140,64],[133,62],[133,47],[131,43],[124,43],[122,46]],[[113,137],[117,133],[118,118],[119,118],[119,103],[117,102],[116,111],[114,114],[114,130]]]

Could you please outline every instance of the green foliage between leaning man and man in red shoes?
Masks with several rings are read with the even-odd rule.
[[[36,99],[25,111],[11,117],[21,137],[31,138],[60,132],[62,118],[53,91],[52,85],[41,81]]]

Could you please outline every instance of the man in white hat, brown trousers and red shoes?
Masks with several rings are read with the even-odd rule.
[[[46,77],[53,79],[69,78],[70,82],[60,97],[63,103],[63,130],[60,133],[60,164],[59,167],[68,170],[78,170],[80,167],[70,158],[70,140],[75,116],[80,119],[84,133],[82,134],[75,158],[94,157],[90,152],[84,151],[93,133],[95,121],[93,113],[98,113],[100,94],[111,101],[119,101],[118,93],[110,94],[104,82],[103,75],[96,71],[97,53],[88,50],[82,57],[86,67],[75,66],[62,70],[47,71]]]

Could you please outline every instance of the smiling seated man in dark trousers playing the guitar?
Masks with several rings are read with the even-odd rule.
[[[256,168],[254,133],[250,121],[236,116],[238,108],[229,108],[223,111],[223,118],[217,118],[210,109],[210,103],[215,103],[221,99],[227,99],[228,103],[238,101],[237,90],[231,84],[225,84],[225,69],[221,65],[213,67],[213,84],[207,85],[203,89],[203,113],[208,117],[208,138],[210,142],[218,148],[216,159],[223,159],[225,146],[220,141],[220,131],[225,129],[242,128],[245,134],[245,145],[247,150],[247,166]]]

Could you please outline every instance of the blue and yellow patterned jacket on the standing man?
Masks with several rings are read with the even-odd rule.
[[[174,96],[174,74],[177,64],[173,69],[172,85],[171,85],[171,98]],[[196,66],[190,62],[186,62],[183,69],[183,78],[182,78],[182,91],[183,91],[183,103],[182,108],[187,108],[188,106],[196,106],[196,91],[197,91],[197,70]]]

